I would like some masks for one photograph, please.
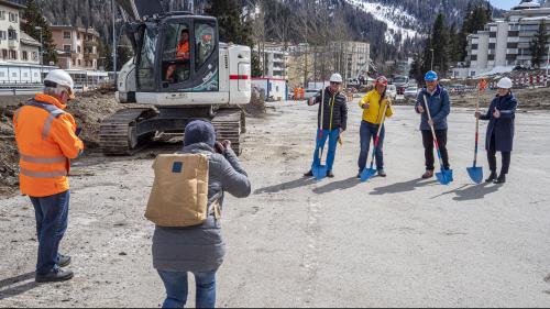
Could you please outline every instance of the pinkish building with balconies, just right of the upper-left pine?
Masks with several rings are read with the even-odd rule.
[[[96,30],[70,25],[53,25],[52,34],[54,44],[57,46],[61,68],[98,69],[99,33]]]

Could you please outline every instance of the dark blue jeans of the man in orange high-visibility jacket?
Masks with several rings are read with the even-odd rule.
[[[59,243],[67,230],[70,191],[50,197],[31,197],[36,217],[38,261],[36,274],[45,275],[59,268]]]

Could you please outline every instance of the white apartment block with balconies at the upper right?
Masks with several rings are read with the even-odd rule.
[[[473,77],[483,73],[517,65],[530,67],[529,44],[541,21],[550,35],[550,2],[539,4],[521,1],[506,13],[505,19],[488,23],[483,31],[468,36],[466,68],[462,75]],[[548,48],[548,46],[547,46]],[[547,54],[547,57],[550,57]],[[548,59],[544,58],[544,66]]]

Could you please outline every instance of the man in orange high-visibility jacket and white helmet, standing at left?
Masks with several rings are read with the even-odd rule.
[[[70,159],[84,151],[75,119],[64,111],[75,98],[73,78],[62,69],[52,70],[44,86],[44,93],[37,93],[13,115],[20,190],[31,198],[36,216],[38,283],[73,278],[73,272],[61,268],[70,257],[61,255],[58,249],[67,229]]]

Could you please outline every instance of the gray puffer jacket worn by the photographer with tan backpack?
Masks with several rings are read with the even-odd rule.
[[[232,150],[224,155],[215,153],[207,144],[193,144],[180,153],[207,154],[209,159],[209,205],[223,192],[238,198],[248,197],[251,186],[246,173]],[[222,214],[223,217],[223,214]],[[168,272],[209,272],[223,263],[226,245],[221,236],[221,222],[213,214],[201,225],[188,228],[155,228],[153,235],[153,266]]]

